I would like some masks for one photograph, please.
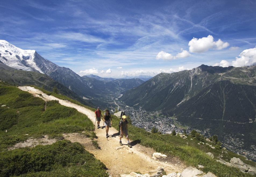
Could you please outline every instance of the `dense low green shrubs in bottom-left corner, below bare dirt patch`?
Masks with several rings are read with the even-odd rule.
[[[84,150],[80,143],[68,140],[0,153],[0,176],[3,177],[47,176],[58,169],[64,170],[58,172],[59,176],[64,176],[68,171],[65,169],[73,169],[74,166],[77,169],[75,176],[108,176],[105,165],[95,159],[93,154]]]

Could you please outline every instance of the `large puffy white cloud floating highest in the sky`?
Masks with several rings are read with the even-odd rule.
[[[208,51],[209,49],[222,50],[229,46],[229,43],[223,42],[221,39],[214,42],[211,35],[207,38],[203,37],[200,39],[193,38],[189,41],[189,51],[193,53],[202,53]]]

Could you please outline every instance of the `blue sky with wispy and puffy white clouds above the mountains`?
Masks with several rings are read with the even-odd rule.
[[[80,76],[256,64],[256,1],[2,0],[0,39]]]

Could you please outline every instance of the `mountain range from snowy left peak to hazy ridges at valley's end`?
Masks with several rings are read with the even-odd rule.
[[[106,92],[127,91],[144,82],[140,79],[96,80],[87,76],[81,77],[69,68],[59,67],[46,60],[35,50],[22,50],[5,40],[0,40],[0,61],[15,69],[48,75],[85,99],[97,98]]]

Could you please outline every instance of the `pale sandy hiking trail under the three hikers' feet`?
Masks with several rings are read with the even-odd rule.
[[[18,88],[23,91],[28,91],[35,97],[44,99],[44,101],[59,100],[61,105],[77,109],[79,112],[87,115],[88,118],[95,123],[95,113],[87,108],[73,104],[67,100],[58,99],[52,95],[46,95],[41,90],[37,90],[34,87],[26,86]],[[39,94],[42,94],[42,96]],[[152,154],[155,152],[153,149],[141,146],[131,139],[131,148],[127,146],[126,138],[122,139],[123,146],[120,146],[118,131],[115,128],[110,127],[108,132],[110,137],[106,138],[106,130],[105,126],[103,126],[103,121],[100,122],[100,126],[101,127],[97,129],[96,123],[94,130],[98,137],[96,140],[100,149],[97,149],[92,145],[90,138],[78,133],[63,134],[63,137],[71,142],[81,143],[88,152],[94,154],[97,159],[106,165],[107,171],[113,177],[118,177],[120,174],[130,174],[130,172],[140,172],[140,174],[152,175],[154,173],[151,173],[150,171],[158,167],[162,167],[166,174],[173,172],[181,173],[186,168],[186,165],[175,157],[167,157],[165,159],[162,158],[157,160],[152,159]]]

